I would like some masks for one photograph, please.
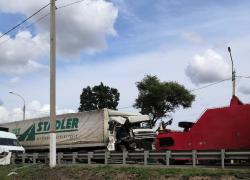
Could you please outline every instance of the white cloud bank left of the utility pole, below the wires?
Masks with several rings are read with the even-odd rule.
[[[1,33],[0,33],[1,34]],[[6,36],[5,38],[8,38]],[[49,44],[42,36],[32,38],[30,32],[25,31],[1,45],[0,73],[24,74],[32,72],[45,72],[47,66],[34,62],[31,59],[48,55]]]

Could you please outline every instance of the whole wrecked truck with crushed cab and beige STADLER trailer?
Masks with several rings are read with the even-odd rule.
[[[49,151],[50,118],[1,124],[16,134],[26,152]],[[56,116],[57,151],[154,150],[148,115],[109,109]]]

